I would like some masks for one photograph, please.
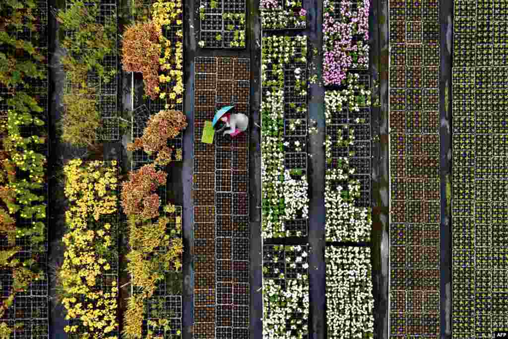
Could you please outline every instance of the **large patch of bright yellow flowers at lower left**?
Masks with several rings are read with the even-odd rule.
[[[101,284],[114,275],[109,258],[116,256],[116,228],[106,221],[118,208],[116,165],[116,161],[84,164],[75,159],[63,169],[69,231],[63,236],[66,252],[58,270],[59,290],[66,319],[79,319],[82,324],[65,330],[80,338],[116,337],[117,282],[111,279]]]

